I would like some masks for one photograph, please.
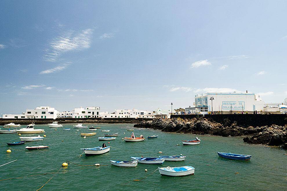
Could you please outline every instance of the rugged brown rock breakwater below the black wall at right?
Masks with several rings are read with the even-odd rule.
[[[268,144],[287,148],[287,127],[284,126],[239,126],[237,122],[226,119],[222,123],[217,123],[212,119],[193,118],[193,119],[154,119],[152,121],[140,122],[134,127],[153,128],[165,132],[209,134],[218,136],[244,136],[244,142],[250,144]]]

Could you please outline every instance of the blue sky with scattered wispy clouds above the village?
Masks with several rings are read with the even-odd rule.
[[[1,1],[0,113],[287,97],[287,1]]]

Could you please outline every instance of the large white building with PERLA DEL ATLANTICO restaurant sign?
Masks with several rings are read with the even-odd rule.
[[[208,112],[232,114],[263,111],[263,101],[255,93],[202,93],[195,95],[193,107],[185,109],[186,114],[208,114]]]

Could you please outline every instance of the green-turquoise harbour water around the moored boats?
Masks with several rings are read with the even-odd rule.
[[[110,152],[86,157],[81,155],[79,148],[101,146],[103,141],[97,137],[103,136],[101,129],[88,131],[74,129],[73,124],[64,124],[63,128],[70,127],[70,131],[63,128],[49,128],[48,125],[36,125],[35,128],[45,129],[47,137],[43,141],[26,142],[20,146],[7,146],[7,142],[18,141],[16,133],[0,134],[1,164],[14,159],[17,161],[0,167],[1,190],[37,190],[53,177],[41,190],[286,190],[287,189],[287,153],[279,148],[269,148],[260,145],[250,145],[243,142],[242,137],[218,137],[208,135],[172,134],[152,129],[136,128],[136,136],[159,135],[158,139],[146,139],[142,142],[126,143],[121,141],[124,136],[132,132],[126,131],[133,124],[88,124],[100,126],[101,129],[110,129],[110,133],[119,133],[116,140],[110,141]],[[79,131],[77,131],[79,130]],[[79,134],[97,132],[97,135],[84,139]],[[124,134],[125,133],[125,134]],[[38,134],[35,134],[36,136]],[[40,134],[43,135],[43,134]],[[26,134],[22,136],[34,136]],[[177,146],[181,140],[201,139],[195,146]],[[46,145],[49,149],[25,150],[25,146]],[[12,153],[6,153],[11,147]],[[162,151],[162,154],[158,152]],[[232,152],[252,155],[250,161],[234,161],[218,157],[216,151]],[[208,153],[208,154],[206,154]],[[166,161],[163,165],[139,164],[133,168],[112,166],[109,160],[130,160],[130,156],[157,157],[158,155],[184,155],[185,161]],[[199,155],[206,154],[206,155]],[[80,162],[76,166],[70,164],[67,168],[61,167],[66,161]],[[256,161],[255,161],[256,160]],[[195,168],[194,176],[165,177],[158,171],[142,181],[133,181],[149,175],[157,167],[186,166]],[[148,172],[144,170],[148,169]],[[58,172],[25,177],[35,174]]]

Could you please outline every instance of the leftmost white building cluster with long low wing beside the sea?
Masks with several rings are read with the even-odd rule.
[[[54,107],[41,106],[36,109],[26,109],[22,114],[4,114],[6,119],[56,119],[58,111]]]

